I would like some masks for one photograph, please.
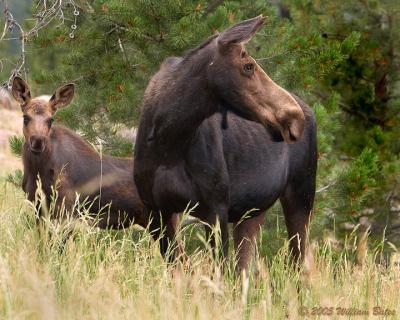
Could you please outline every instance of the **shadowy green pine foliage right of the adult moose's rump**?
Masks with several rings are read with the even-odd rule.
[[[319,129],[322,191],[317,194],[316,213],[323,214],[323,223],[332,227],[334,220],[357,222],[373,212],[375,227],[386,226],[389,234],[392,200],[388,199],[398,195],[400,172],[400,78],[395,67],[400,63],[400,3],[305,0],[284,4],[299,35],[304,38],[318,30],[324,41],[336,42],[333,47],[339,41],[343,54],[309,96],[317,101]],[[319,61],[329,61],[330,56],[325,53]],[[329,110],[328,101],[333,101],[336,111]]]

